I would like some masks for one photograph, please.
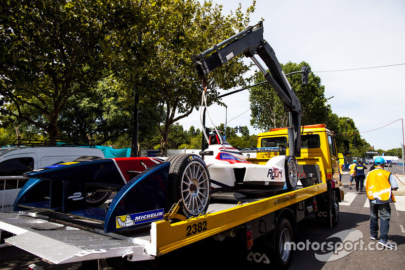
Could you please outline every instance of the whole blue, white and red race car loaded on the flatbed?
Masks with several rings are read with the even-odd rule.
[[[201,154],[205,160],[193,154],[84,157],[27,172],[24,177],[30,179],[19,192],[14,211],[39,208],[99,220],[108,233],[163,219],[175,204],[187,218],[205,213],[211,189],[293,190],[297,185],[293,157],[277,156],[266,165],[255,165],[216,134]],[[112,191],[116,194],[107,210],[98,208]]]

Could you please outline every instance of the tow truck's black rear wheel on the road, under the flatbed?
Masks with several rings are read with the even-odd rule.
[[[275,229],[274,236],[274,261],[280,268],[287,268],[291,261],[291,247],[293,242],[293,229],[287,218],[281,218]]]

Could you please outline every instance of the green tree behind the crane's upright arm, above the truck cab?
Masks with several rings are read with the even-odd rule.
[[[288,62],[280,64],[286,74],[301,70],[302,65],[309,66],[306,62],[300,64]],[[308,84],[302,85],[300,73],[288,76],[302,108],[302,125],[325,123],[325,87],[320,84],[320,78],[310,72]],[[261,72],[255,74],[255,84],[265,81]],[[270,84],[262,84],[250,89],[251,125],[262,131],[271,128],[286,127],[288,113],[284,111],[284,103],[279,99]],[[329,119],[328,119],[329,122]],[[329,125],[329,124],[328,124]]]

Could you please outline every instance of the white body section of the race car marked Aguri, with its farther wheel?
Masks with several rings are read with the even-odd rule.
[[[267,147],[266,150],[278,149]],[[292,156],[275,156],[265,165],[253,164],[245,159],[239,149],[215,133],[210,135],[209,147],[201,155],[207,164],[212,187],[216,189],[294,190],[297,186],[297,164]]]

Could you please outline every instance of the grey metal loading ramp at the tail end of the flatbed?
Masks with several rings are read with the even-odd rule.
[[[5,215],[9,214],[7,217]],[[144,245],[63,226],[31,216],[2,213],[2,227],[16,236],[5,242],[30,252],[43,260],[62,264],[109,257],[139,256],[143,260],[153,258],[144,254]]]

